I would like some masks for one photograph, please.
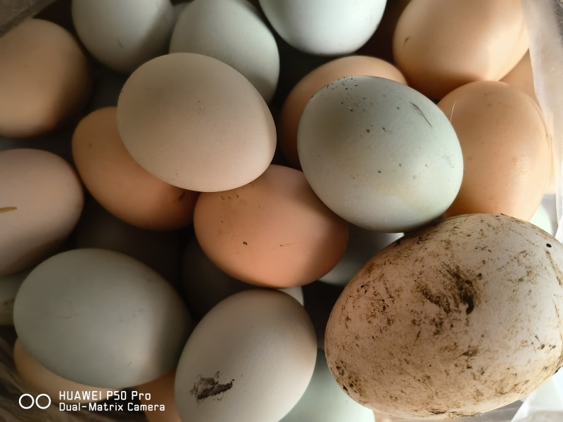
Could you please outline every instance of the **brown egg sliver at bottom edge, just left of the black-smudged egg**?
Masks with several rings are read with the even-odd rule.
[[[175,378],[176,371],[174,370],[151,383],[137,387],[141,406],[147,407],[143,411],[148,422],[182,422],[174,397]],[[164,407],[164,410],[161,406]]]

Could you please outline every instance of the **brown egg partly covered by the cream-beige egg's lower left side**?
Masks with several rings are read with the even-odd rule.
[[[191,224],[197,193],[172,186],[133,160],[118,132],[116,108],[96,110],[72,136],[72,156],[88,191],[124,222],[149,230]]]

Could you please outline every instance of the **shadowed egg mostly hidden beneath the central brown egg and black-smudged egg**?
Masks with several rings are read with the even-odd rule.
[[[182,286],[190,312],[201,319],[217,303],[229,296],[255,286],[234,279],[221,271],[205,255],[196,238],[188,242],[182,260]],[[284,288],[287,293],[303,305],[301,287]]]

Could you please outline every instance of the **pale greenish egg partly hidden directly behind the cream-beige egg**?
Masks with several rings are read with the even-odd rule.
[[[267,103],[279,77],[272,32],[246,0],[194,0],[180,15],[170,53],[198,53],[221,60],[250,81]]]

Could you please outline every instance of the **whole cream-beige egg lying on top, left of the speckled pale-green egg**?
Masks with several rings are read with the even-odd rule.
[[[173,53],[127,79],[118,129],[135,161],[158,179],[190,191],[227,191],[262,174],[276,129],[253,85],[215,58]]]

